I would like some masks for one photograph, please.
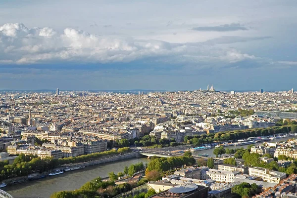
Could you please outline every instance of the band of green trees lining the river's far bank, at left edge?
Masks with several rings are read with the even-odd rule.
[[[8,179],[16,176],[27,176],[34,172],[50,171],[53,168],[60,167],[69,163],[80,163],[92,160],[97,160],[103,157],[124,154],[130,152],[131,149],[124,147],[116,150],[104,151],[100,153],[93,153],[88,155],[82,155],[69,158],[43,158],[41,159],[37,155],[24,155],[20,154],[14,159],[12,164],[9,164],[8,160],[0,162],[0,180]]]

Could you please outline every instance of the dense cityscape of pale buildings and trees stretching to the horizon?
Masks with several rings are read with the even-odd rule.
[[[51,198],[293,198],[296,120],[294,89],[2,91],[1,187],[148,157],[148,164],[126,166]],[[213,154],[199,153],[207,150]],[[102,185],[106,190],[97,191]]]

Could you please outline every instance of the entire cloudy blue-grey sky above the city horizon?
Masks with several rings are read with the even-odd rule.
[[[296,0],[1,0],[0,89],[297,89]]]

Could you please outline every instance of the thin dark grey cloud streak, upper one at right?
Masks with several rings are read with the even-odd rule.
[[[230,32],[238,30],[248,30],[246,27],[241,26],[239,23],[224,24],[220,26],[201,26],[192,28],[192,30],[203,32]]]

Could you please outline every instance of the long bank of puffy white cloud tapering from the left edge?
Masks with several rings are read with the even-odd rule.
[[[128,63],[150,59],[171,64],[236,63],[256,59],[229,47],[203,43],[170,43],[160,40],[101,37],[74,28],[58,33],[51,28],[24,24],[0,26],[0,64],[53,62]]]

